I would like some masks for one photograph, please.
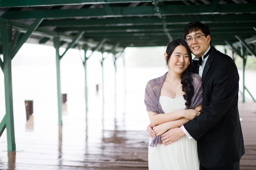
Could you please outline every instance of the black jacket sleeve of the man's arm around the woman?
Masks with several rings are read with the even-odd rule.
[[[210,96],[209,103],[203,105],[200,116],[184,124],[187,132],[195,140],[203,136],[225,115],[238,93],[238,83],[239,75],[236,65],[223,64],[213,80],[212,91],[207,94]],[[207,90],[207,87],[203,90]]]

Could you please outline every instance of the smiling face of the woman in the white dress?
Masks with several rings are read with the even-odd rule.
[[[182,45],[177,46],[168,61],[169,71],[182,74],[189,64],[189,55],[186,48]]]

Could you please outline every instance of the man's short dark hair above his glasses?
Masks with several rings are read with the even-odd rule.
[[[205,25],[199,21],[193,21],[193,22],[186,24],[185,28],[183,29],[184,40],[186,40],[186,36],[188,34],[198,31],[198,30],[201,30],[202,33],[204,33],[205,37],[210,35],[210,28],[207,25]],[[210,41],[210,45],[212,45],[212,41]]]

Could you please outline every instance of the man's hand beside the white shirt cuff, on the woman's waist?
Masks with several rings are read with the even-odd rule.
[[[164,143],[164,146],[165,146],[172,142],[176,142],[184,135],[185,135],[185,133],[182,131],[181,128],[170,129],[161,135],[161,144]]]

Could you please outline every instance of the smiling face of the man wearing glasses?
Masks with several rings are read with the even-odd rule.
[[[196,58],[202,57],[205,51],[208,49],[211,41],[210,35],[207,37],[202,36],[200,40],[196,40],[194,37],[198,35],[204,35],[204,33],[199,29],[195,32],[189,33],[186,38],[193,38],[191,42],[187,42],[191,52],[195,55]]]

